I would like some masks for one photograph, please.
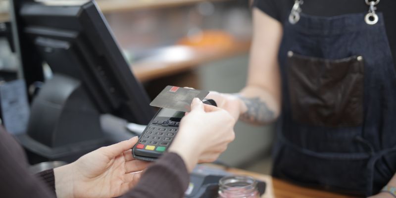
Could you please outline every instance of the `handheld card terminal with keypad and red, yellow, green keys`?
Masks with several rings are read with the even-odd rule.
[[[212,99],[204,99],[202,102],[217,106]],[[153,161],[161,156],[175,138],[184,114],[183,111],[160,108],[132,149],[133,156],[146,161]]]

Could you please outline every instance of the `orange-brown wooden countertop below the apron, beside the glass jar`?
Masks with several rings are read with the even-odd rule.
[[[294,184],[272,178],[269,175],[262,175],[235,168],[229,168],[226,170],[234,174],[250,175],[258,180],[265,181],[267,183],[267,187],[265,194],[261,198],[353,198],[346,195],[296,186]]]

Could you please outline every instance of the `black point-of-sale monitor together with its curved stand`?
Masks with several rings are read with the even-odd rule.
[[[106,20],[91,0],[13,0],[14,23],[27,87],[53,72],[32,99],[28,155],[72,161],[110,144],[100,127],[109,113],[147,124],[154,115]],[[18,44],[18,43],[16,43]]]

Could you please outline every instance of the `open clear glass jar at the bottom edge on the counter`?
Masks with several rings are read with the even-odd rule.
[[[219,198],[260,198],[257,181],[250,176],[226,176],[219,181]]]

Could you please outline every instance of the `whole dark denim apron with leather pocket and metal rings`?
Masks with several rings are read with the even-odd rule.
[[[369,196],[395,174],[396,73],[383,16],[369,14],[308,16],[295,4],[284,23],[275,177]]]

